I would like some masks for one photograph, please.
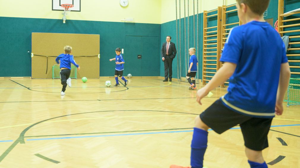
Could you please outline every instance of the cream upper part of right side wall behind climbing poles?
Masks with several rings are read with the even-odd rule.
[[[187,3],[185,0],[185,16],[187,16]],[[195,14],[197,14],[197,0],[195,1]],[[161,0],[161,23],[176,20],[176,1],[175,0]],[[198,12],[202,13],[204,10],[214,10],[218,6],[235,4],[236,0],[198,0]],[[184,0],[180,0],[181,18],[184,18]],[[179,0],[177,0],[177,17],[179,18]],[[164,14],[165,13],[165,14]],[[168,13],[168,14],[167,14]],[[189,16],[193,15],[193,0],[189,0]]]

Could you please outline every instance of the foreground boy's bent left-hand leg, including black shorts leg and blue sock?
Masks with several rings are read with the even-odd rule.
[[[252,117],[239,114],[228,109],[219,99],[209,106],[195,120],[195,128],[191,144],[191,166],[193,168],[203,167],[203,156],[207,147],[208,128],[213,129],[218,134],[244,123]]]

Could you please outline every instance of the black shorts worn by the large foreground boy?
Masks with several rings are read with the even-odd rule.
[[[220,99],[202,112],[200,118],[218,134],[239,124],[247,148],[261,151],[268,147],[267,135],[273,118],[256,118],[234,112]]]

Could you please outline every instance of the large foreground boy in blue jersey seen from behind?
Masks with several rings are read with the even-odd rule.
[[[209,91],[230,77],[228,93],[195,119],[192,168],[203,167],[209,128],[221,134],[237,124],[241,127],[250,167],[268,167],[262,150],[268,147],[272,118],[283,113],[282,102],[290,77],[280,35],[263,18],[268,4],[269,0],[237,0],[238,17],[244,25],[230,31],[220,59],[224,64],[197,91],[197,102],[201,105],[201,99]]]

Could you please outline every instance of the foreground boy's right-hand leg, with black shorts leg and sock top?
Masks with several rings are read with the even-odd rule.
[[[251,168],[268,167],[262,157],[262,150],[268,147],[268,132],[272,118],[252,118],[241,123],[245,141],[245,153]]]

